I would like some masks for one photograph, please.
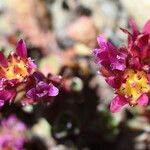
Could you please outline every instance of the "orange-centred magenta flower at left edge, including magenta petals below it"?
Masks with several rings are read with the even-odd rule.
[[[0,107],[15,99],[17,88],[28,82],[35,68],[33,60],[27,58],[26,44],[22,39],[18,41],[16,53],[10,53],[7,59],[0,52]]]

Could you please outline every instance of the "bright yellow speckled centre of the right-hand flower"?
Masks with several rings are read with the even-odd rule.
[[[129,98],[130,105],[136,105],[137,99],[143,94],[150,92],[150,84],[144,71],[127,70],[125,72],[126,82],[123,83],[118,94]]]

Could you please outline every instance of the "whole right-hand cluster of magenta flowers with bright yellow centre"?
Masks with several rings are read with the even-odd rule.
[[[131,32],[121,30],[128,35],[128,45],[115,47],[102,36],[98,36],[98,49],[93,53],[100,72],[106,82],[114,88],[116,97],[110,104],[111,112],[118,112],[129,104],[145,106],[149,104],[150,93],[150,21],[142,32],[135,22],[129,21]]]

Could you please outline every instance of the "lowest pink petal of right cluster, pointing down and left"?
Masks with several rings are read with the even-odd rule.
[[[110,104],[110,111],[111,112],[119,112],[121,110],[121,108],[126,105],[127,99],[123,96],[116,96]]]

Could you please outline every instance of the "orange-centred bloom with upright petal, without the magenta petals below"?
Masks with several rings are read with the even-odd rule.
[[[10,53],[6,59],[3,52],[0,52],[0,58],[0,78],[5,86],[12,87],[25,82],[36,68],[33,60],[27,58],[27,48],[23,40],[18,42],[16,53]]]

